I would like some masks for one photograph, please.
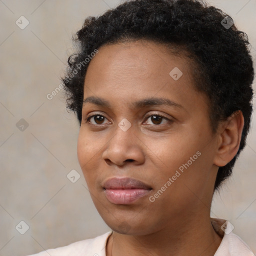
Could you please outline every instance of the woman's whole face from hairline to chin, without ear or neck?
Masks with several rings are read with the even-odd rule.
[[[89,63],[77,155],[116,232],[150,234],[209,213],[217,141],[191,69],[144,40],[103,45]]]

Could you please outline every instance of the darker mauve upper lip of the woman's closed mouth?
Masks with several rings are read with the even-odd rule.
[[[130,177],[113,177],[107,179],[103,183],[103,188],[105,189],[151,189],[151,187],[142,181]]]

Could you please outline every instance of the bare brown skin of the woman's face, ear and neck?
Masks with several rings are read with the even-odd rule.
[[[174,67],[183,73],[177,80],[169,75]],[[238,111],[213,134],[206,96],[194,89],[190,68],[183,55],[146,40],[103,45],[89,63],[83,99],[102,97],[110,106],[83,104],[77,156],[95,207],[113,230],[107,256],[210,256],[221,242],[210,222],[214,181],[218,166],[238,150],[243,116]],[[147,97],[164,97],[180,107],[131,106]],[[93,114],[105,118],[86,122]],[[155,114],[171,121],[156,121]],[[131,124],[126,131],[118,126],[123,118]],[[197,151],[200,156],[149,201]],[[114,176],[139,179],[152,189],[129,205],[111,203],[102,183]]]

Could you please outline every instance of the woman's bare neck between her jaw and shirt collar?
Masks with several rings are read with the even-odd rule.
[[[146,235],[113,231],[107,242],[106,256],[213,256],[221,239],[209,216],[188,216]]]

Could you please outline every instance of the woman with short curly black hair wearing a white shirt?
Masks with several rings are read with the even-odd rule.
[[[111,231],[34,255],[254,255],[210,217],[249,130],[246,34],[199,1],[132,0],[86,18],[76,41],[67,106]]]

